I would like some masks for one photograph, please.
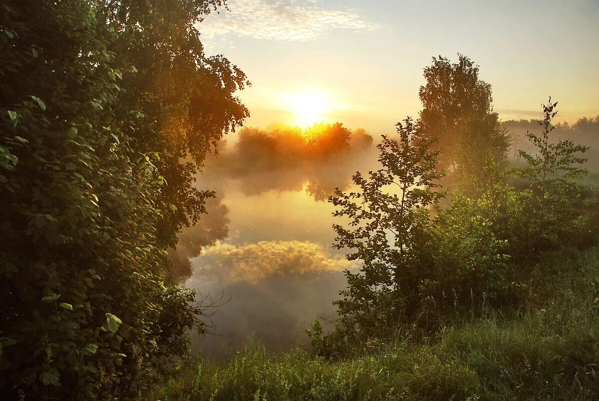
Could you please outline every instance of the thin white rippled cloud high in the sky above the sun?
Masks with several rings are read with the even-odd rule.
[[[334,28],[372,30],[352,10],[331,10],[321,1],[235,0],[228,2],[231,12],[207,16],[198,25],[204,38],[226,34],[266,40],[314,40]]]

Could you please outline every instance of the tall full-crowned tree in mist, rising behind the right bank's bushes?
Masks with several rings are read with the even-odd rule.
[[[458,182],[483,177],[488,158],[505,165],[509,133],[493,111],[491,85],[479,79],[479,67],[463,55],[455,64],[439,56],[424,69],[424,77],[418,123],[430,137],[440,138],[441,162],[450,171],[457,167]]]

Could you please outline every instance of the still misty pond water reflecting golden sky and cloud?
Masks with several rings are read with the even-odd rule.
[[[192,338],[195,351],[205,354],[222,354],[250,336],[271,349],[307,343],[304,329],[315,318],[332,328],[327,321],[335,319],[332,300],[346,287],[343,271],[359,264],[332,249],[331,225],[340,219],[333,218],[327,200],[335,188],[349,189],[357,170],[377,166],[374,145],[268,168],[256,168],[251,160],[233,165],[235,153],[208,159],[199,179],[202,189],[217,191],[208,216],[217,212],[213,222],[226,224],[223,230],[204,222],[204,231],[226,236],[195,249],[195,257],[185,255],[190,272],[184,285],[220,305],[213,310],[210,334]]]

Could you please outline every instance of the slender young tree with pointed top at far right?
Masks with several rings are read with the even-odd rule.
[[[586,158],[581,157],[589,147],[574,144],[572,140],[559,140],[553,143],[549,133],[555,128],[551,121],[557,114],[551,98],[543,105],[543,126],[540,135],[527,132],[527,137],[536,147],[536,152],[520,150],[520,155],[528,166],[518,168],[515,173],[527,180],[530,188],[537,195],[536,207],[531,208],[539,229],[536,242],[531,243],[533,249],[547,249],[561,246],[564,242],[572,242],[580,234],[575,228],[583,217],[585,192],[588,187],[579,180],[588,174],[582,165]]]

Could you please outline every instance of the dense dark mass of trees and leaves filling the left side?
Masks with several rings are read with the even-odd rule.
[[[125,397],[205,329],[162,272],[208,144],[247,114],[193,28],[218,4],[0,5],[2,399]]]

